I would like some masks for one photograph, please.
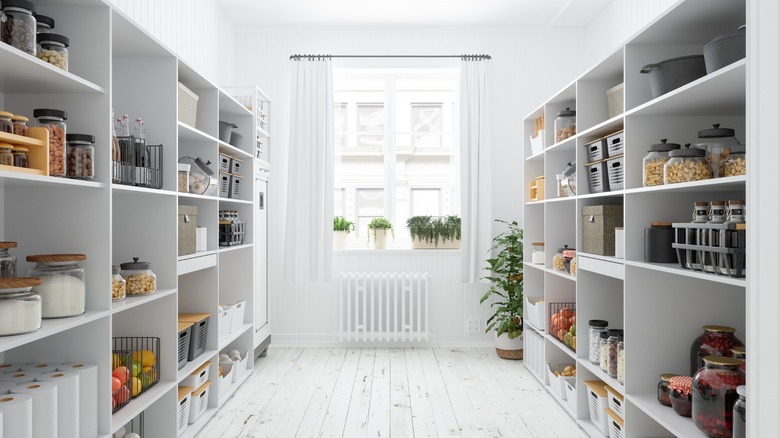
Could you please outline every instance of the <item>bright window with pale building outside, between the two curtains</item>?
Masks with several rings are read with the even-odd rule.
[[[355,223],[352,247],[377,217],[404,248],[409,217],[460,213],[457,89],[457,69],[334,70],[333,210]]]

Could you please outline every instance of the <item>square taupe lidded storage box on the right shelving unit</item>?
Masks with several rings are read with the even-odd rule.
[[[623,226],[622,205],[582,207],[582,252],[615,255],[615,228]]]

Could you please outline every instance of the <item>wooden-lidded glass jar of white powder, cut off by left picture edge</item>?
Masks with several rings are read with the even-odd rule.
[[[40,278],[0,279],[0,336],[20,335],[41,328],[41,297],[32,288]]]

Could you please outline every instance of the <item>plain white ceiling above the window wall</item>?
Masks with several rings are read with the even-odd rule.
[[[583,27],[612,0],[216,0],[241,27]]]

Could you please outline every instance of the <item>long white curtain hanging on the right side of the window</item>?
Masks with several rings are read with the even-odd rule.
[[[476,283],[488,274],[492,239],[488,95],[490,60],[460,65],[461,276]]]

